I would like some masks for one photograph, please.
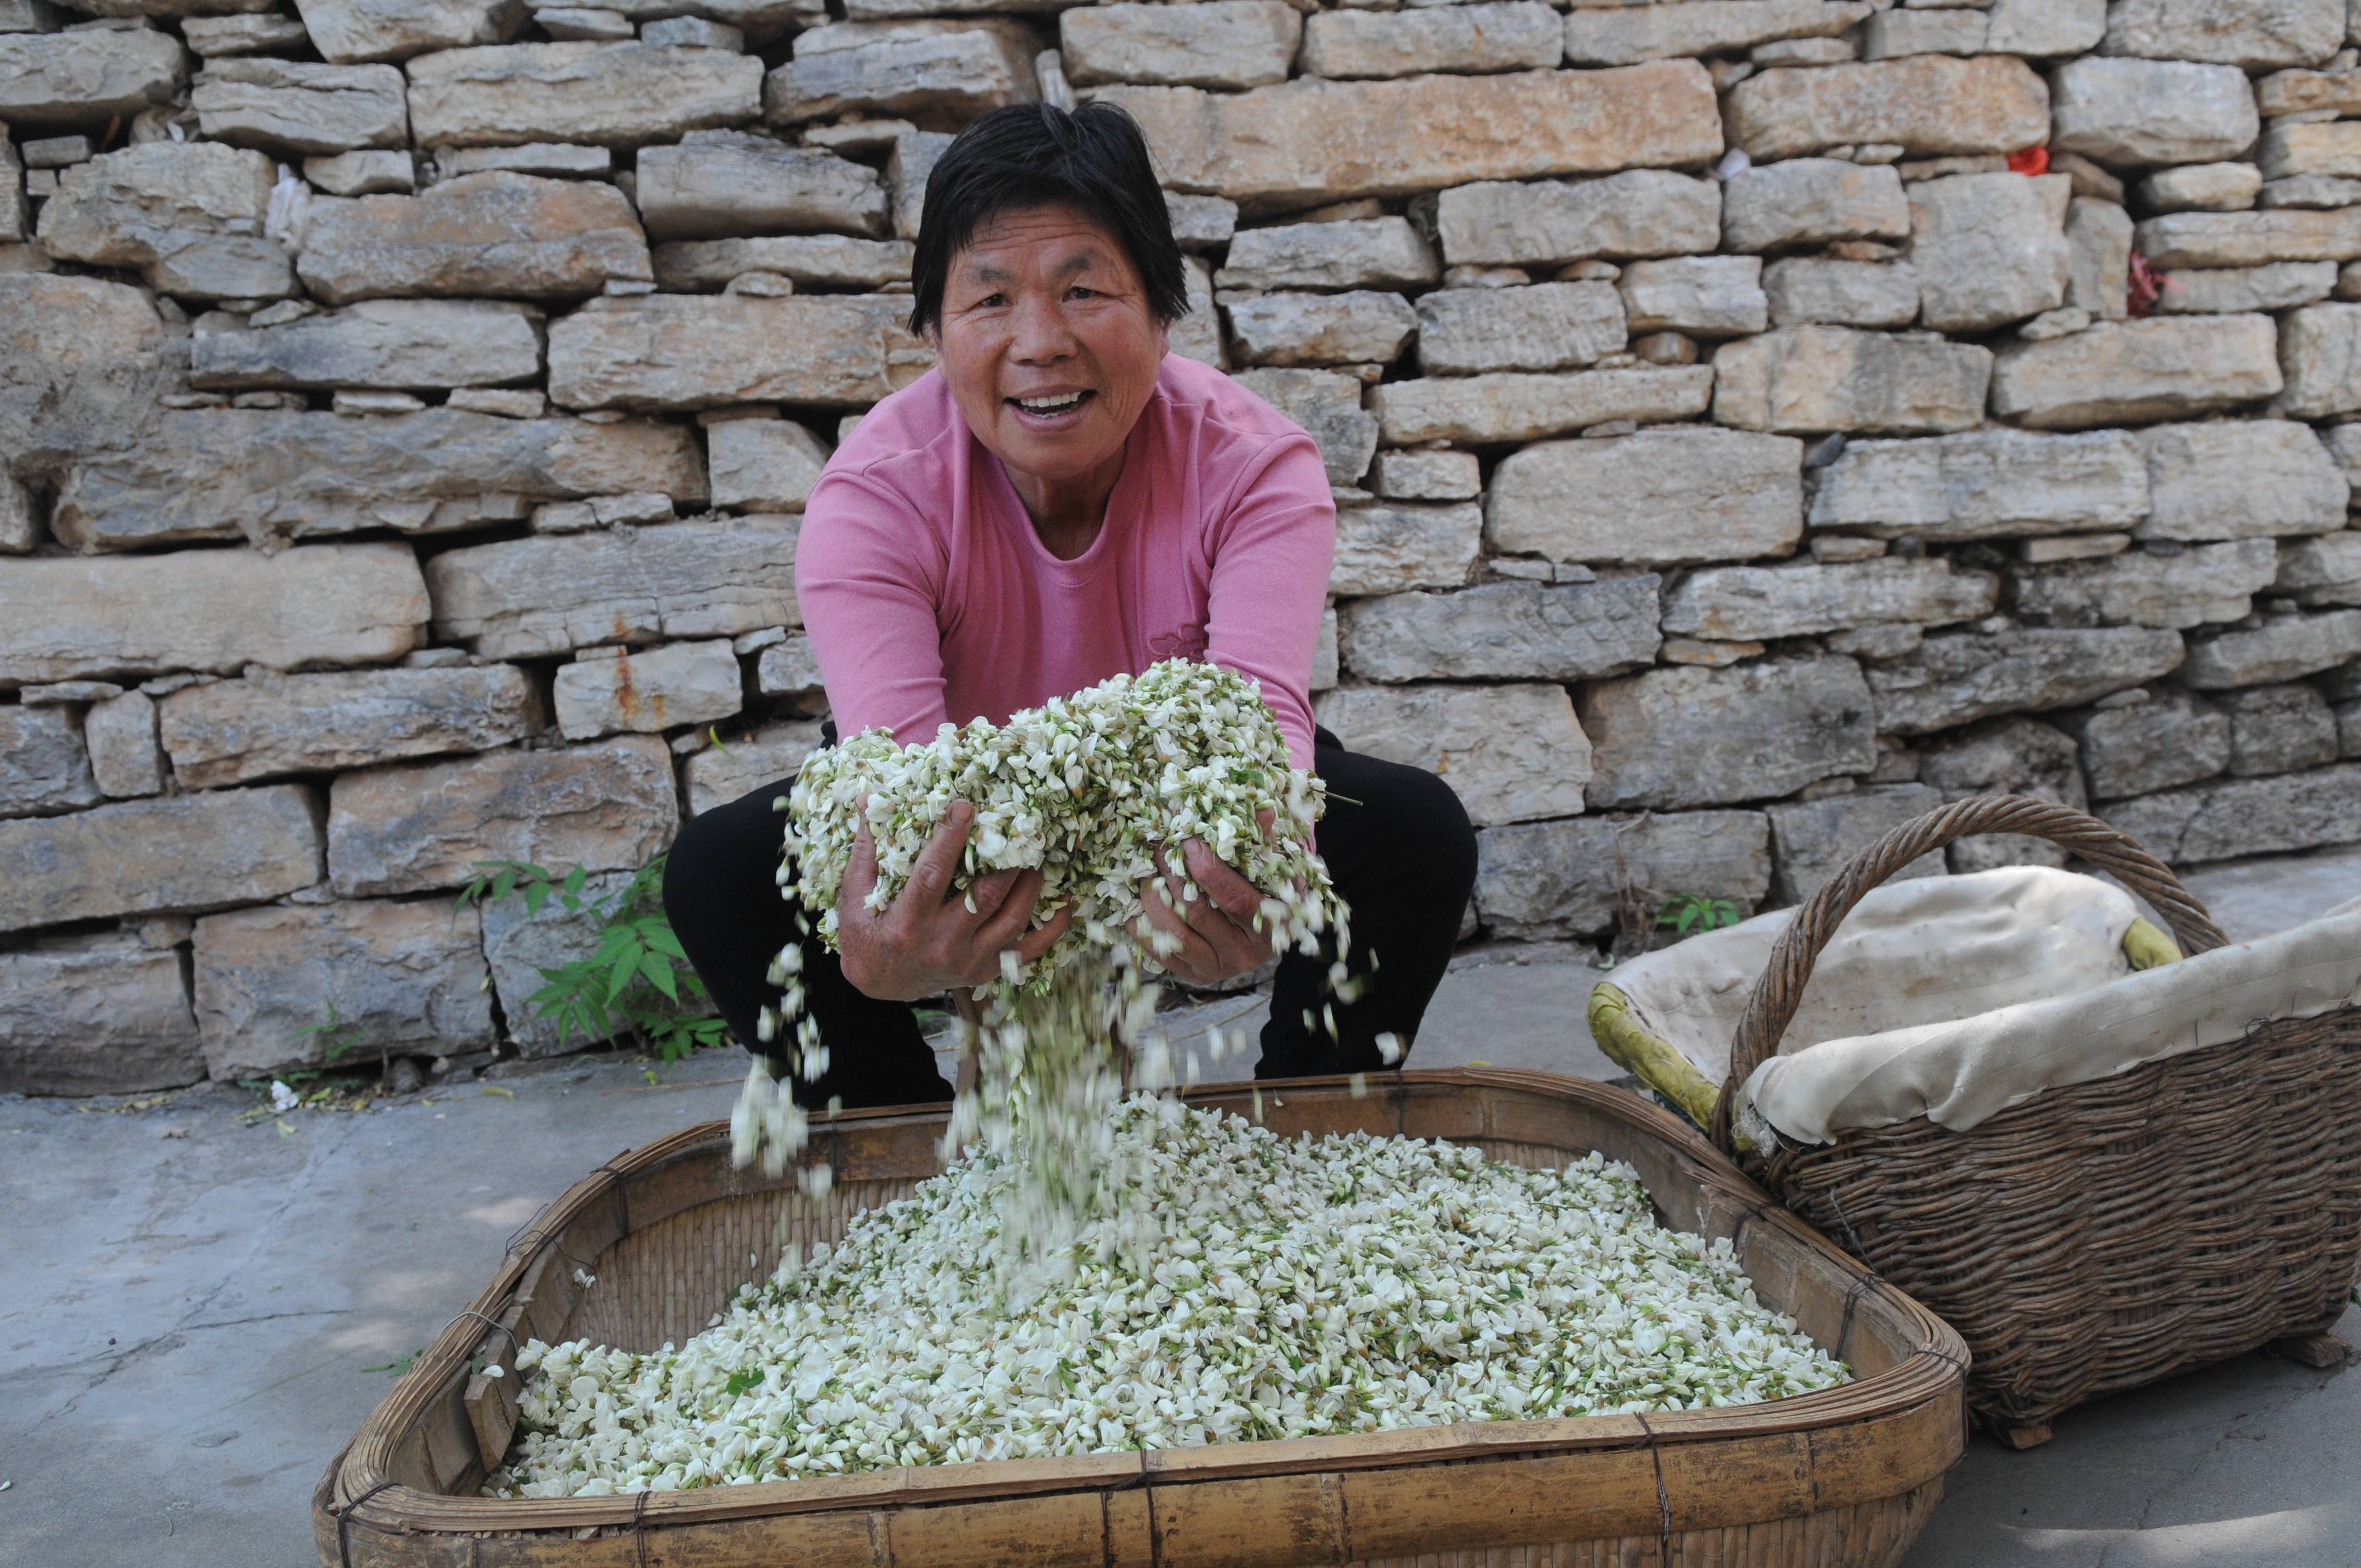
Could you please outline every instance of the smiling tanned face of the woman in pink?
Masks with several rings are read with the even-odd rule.
[[[1119,463],[1164,361],[1164,328],[1121,243],[1072,208],[1015,208],[951,260],[935,333],[968,430],[1013,477]]]

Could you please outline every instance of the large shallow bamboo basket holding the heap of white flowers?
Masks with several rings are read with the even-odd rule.
[[[1197,1105],[1249,1110],[1237,1089]],[[1537,1072],[1410,1072],[1263,1084],[1282,1133],[1476,1143],[1525,1164],[1629,1159],[1662,1216],[1731,1237],[1764,1301],[1856,1381],[1735,1410],[1424,1426],[1074,1459],[892,1469],[576,1500],[479,1497],[515,1431],[515,1337],[649,1348],[701,1329],[781,1240],[937,1169],[942,1112],[845,1112],[815,1129],[836,1167],[824,1214],[789,1181],[730,1167],[730,1129],[692,1126],[576,1183],[508,1252],[328,1466],[312,1500],[333,1568],[1162,1568],[1386,1563],[1886,1566],[1960,1457],[1964,1348],[1938,1318],[1775,1209],[1688,1126],[1615,1089]],[[781,1230],[781,1219],[784,1230]],[[576,1273],[595,1278],[583,1289]]]

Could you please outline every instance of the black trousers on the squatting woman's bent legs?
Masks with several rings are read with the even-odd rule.
[[[1334,954],[1280,959],[1254,1077],[1381,1070],[1379,1034],[1407,1051],[1476,886],[1476,829],[1443,779],[1346,751],[1327,730],[1315,737],[1313,770],[1329,786],[1320,855],[1353,916],[1346,963],[1362,989],[1355,1001],[1327,994]],[[793,907],[774,881],[786,824],[772,805],[791,784],[692,819],[663,871],[663,914],[748,1051],[758,1048],[756,1015],[779,999],[770,961],[796,940]],[[829,1072],[796,1084],[796,1098],[815,1110],[831,1098],[848,1108],[949,1100],[909,1004],[864,997],[819,937],[803,947],[805,1006],[829,1046]]]

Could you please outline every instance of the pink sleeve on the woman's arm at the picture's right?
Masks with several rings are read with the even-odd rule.
[[[1263,682],[1289,760],[1313,765],[1313,654],[1336,555],[1336,501],[1308,435],[1270,444],[1214,524],[1206,661]]]

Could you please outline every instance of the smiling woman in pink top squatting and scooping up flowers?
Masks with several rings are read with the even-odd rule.
[[[1343,751],[1313,727],[1336,510],[1320,451],[1214,368],[1166,349],[1185,272],[1138,128],[1119,109],[1041,104],[975,120],[935,165],[911,269],[911,331],[937,366],[881,401],[812,489],[796,593],[829,690],[831,734],[928,741],[1006,720],[1159,659],[1261,680],[1296,767],[1329,786],[1320,850],[1353,909],[1353,1001],[1327,961],[1289,954],[1256,1077],[1360,1072],[1417,1037],[1476,878],[1476,836],[1428,772]],[[777,1001],[765,971],[796,940],[774,869],[791,779],[696,817],[663,904],[741,1041]],[[805,992],[829,1072],[807,1105],[944,1100],[911,1001],[1032,959],[1039,874],[992,874],[973,907],[951,871],[973,810],[954,803],[902,895],[871,914],[874,855],[838,904],[843,959],[807,940]],[[1164,966],[1218,985],[1261,966],[1256,890],[1202,843],[1169,867],[1211,900],[1147,916],[1180,937]],[[1391,1041],[1388,1041],[1391,1044]]]

